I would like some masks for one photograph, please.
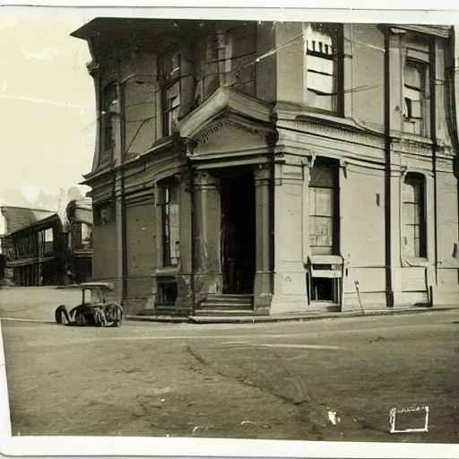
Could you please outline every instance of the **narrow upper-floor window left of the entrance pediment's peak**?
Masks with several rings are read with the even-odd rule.
[[[180,56],[173,50],[160,57],[162,75],[162,134],[174,134],[180,109]]]

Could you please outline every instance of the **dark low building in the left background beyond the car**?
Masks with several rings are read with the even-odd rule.
[[[7,279],[22,287],[91,279],[91,201],[72,201],[65,211],[68,221],[59,212],[1,208]]]

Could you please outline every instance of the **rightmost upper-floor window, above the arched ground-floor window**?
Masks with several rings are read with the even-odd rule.
[[[405,132],[428,134],[428,65],[407,59],[403,69],[403,120]]]

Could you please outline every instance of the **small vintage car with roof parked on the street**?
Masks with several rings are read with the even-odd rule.
[[[85,282],[81,284],[82,304],[68,310],[65,305],[56,308],[57,324],[119,326],[124,319],[123,307],[116,301],[107,299],[113,290],[106,282]]]

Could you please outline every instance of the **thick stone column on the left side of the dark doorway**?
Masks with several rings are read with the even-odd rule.
[[[195,303],[221,293],[221,199],[218,179],[195,174]]]

